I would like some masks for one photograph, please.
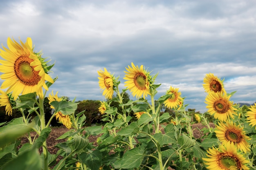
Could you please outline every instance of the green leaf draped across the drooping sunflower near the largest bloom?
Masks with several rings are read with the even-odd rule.
[[[54,113],[61,112],[63,115],[71,115],[76,110],[78,103],[53,101],[51,105],[54,107]]]

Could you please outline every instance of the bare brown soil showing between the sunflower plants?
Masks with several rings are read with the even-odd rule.
[[[210,126],[211,126],[212,128],[215,127],[213,123],[210,123]],[[193,124],[193,125],[192,125],[193,136],[194,136],[196,139],[198,139],[198,138],[200,138],[200,137],[202,136],[202,134],[201,134],[201,132],[200,132],[199,129],[202,129],[202,128],[204,128],[204,127],[206,127],[206,126],[203,126],[202,124]],[[56,139],[57,139],[58,137],[60,137],[61,135],[63,135],[63,134],[64,134],[65,132],[67,132],[67,131],[68,131],[68,129],[65,128],[65,126],[64,126],[64,127],[52,127],[52,131],[50,132],[50,134],[49,134],[49,136],[48,136],[48,138],[47,138],[47,148],[48,148],[48,151],[49,151],[51,154],[56,154],[56,153],[57,153],[58,148],[54,147],[56,144],[66,141],[66,139],[59,139],[59,140],[56,140]],[[35,135],[36,135],[35,132],[31,132],[31,137],[32,137],[32,139],[33,139],[33,137],[34,137]],[[101,136],[101,134],[98,135],[98,136],[90,136],[90,137],[89,137],[89,141],[90,141],[90,142],[93,142],[94,145],[96,145],[96,144],[97,144],[96,140],[97,140],[97,138],[98,138],[99,136]],[[25,144],[25,143],[27,143],[27,142],[29,142],[28,139],[27,139],[27,137],[22,137],[22,138],[21,138],[21,145],[22,145],[22,144]],[[20,148],[21,145],[20,145],[18,148]],[[42,152],[42,147],[39,149],[39,152],[40,152],[40,153]],[[58,157],[58,158],[57,158],[57,162],[58,162],[60,159],[61,159],[61,157]]]

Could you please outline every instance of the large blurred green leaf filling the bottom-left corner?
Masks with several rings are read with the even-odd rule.
[[[42,159],[37,148],[22,152],[18,157],[6,163],[2,170],[41,170]]]

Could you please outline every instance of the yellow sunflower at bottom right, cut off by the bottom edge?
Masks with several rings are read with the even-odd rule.
[[[209,148],[207,153],[208,158],[202,159],[209,170],[249,170],[245,165],[249,161],[236,150],[233,142],[220,148]]]

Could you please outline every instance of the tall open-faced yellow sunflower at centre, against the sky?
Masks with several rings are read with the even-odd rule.
[[[128,66],[128,68],[126,68],[127,71],[124,71],[124,73],[126,73],[124,79],[127,80],[124,82],[124,86],[127,86],[133,97],[136,95],[137,99],[141,97],[145,99],[150,95],[150,75],[144,69],[143,65],[139,67],[135,66],[133,63],[131,64],[132,67]]]

